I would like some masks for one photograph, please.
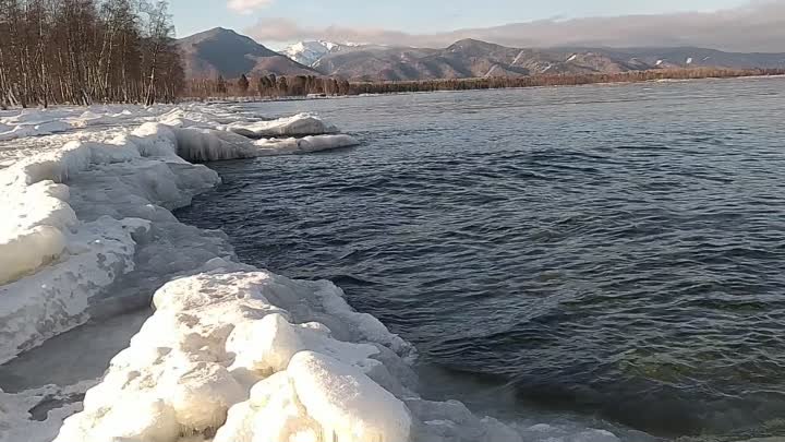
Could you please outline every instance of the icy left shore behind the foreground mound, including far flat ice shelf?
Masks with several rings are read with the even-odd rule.
[[[34,124],[44,116],[59,116],[70,127],[90,126],[140,116],[105,110],[76,116],[68,109],[22,112],[4,117],[2,124]],[[141,115],[200,119],[196,110],[162,110]],[[152,121],[105,142],[71,141],[0,170],[0,208],[7,215],[0,218],[0,363],[84,323],[98,301],[105,312],[122,309],[123,302],[141,307],[167,278],[231,255],[225,238],[194,235],[169,212],[219,182],[214,171],[189,162],[355,143],[348,135],[325,135],[265,144],[218,130],[215,122],[206,128],[179,123]],[[290,132],[334,129],[313,116],[277,120],[270,127]],[[204,241],[194,243],[189,234]],[[156,239],[167,240],[170,248],[155,244]],[[183,256],[183,249],[190,254]],[[134,287],[140,294],[133,294]]]

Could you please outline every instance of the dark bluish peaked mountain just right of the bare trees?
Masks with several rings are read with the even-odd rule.
[[[189,79],[242,74],[318,75],[313,69],[267,49],[231,29],[216,27],[179,39],[185,76]]]

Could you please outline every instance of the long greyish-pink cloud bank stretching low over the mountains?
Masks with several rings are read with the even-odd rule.
[[[409,34],[383,28],[307,27],[288,19],[263,19],[246,29],[259,41],[324,38],[367,44],[446,47],[476,38],[514,47],[700,46],[724,50],[785,51],[785,1],[754,0],[716,12],[550,19],[438,34]]]

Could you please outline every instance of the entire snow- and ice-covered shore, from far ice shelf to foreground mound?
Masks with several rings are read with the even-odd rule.
[[[19,135],[0,144],[0,442],[618,440],[420,397],[415,350],[340,288],[239,263],[222,232],[172,215],[220,182],[191,162],[357,144],[317,117],[98,107],[0,124]]]

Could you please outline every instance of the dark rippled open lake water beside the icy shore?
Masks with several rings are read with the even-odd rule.
[[[253,106],[363,144],[213,164],[179,216],[242,260],[521,407],[785,434],[785,79]]]

